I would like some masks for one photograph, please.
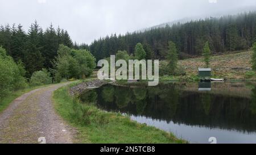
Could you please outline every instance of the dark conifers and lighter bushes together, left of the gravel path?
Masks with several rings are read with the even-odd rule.
[[[68,32],[52,24],[45,31],[37,22],[28,32],[22,25],[0,27],[0,99],[29,86],[85,78],[92,74],[96,59],[78,49]]]

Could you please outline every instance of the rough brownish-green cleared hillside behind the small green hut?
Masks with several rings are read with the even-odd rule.
[[[251,71],[252,51],[238,51],[215,55],[210,58],[213,77],[225,78],[229,81],[255,81],[256,74]],[[195,78],[197,69],[204,66],[203,57],[180,60],[188,78]]]

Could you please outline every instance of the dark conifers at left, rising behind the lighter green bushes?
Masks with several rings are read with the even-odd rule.
[[[26,77],[43,68],[52,68],[52,61],[57,56],[60,44],[75,48],[68,32],[52,24],[45,31],[37,22],[31,24],[25,32],[21,24],[0,27],[0,46],[15,62],[22,61],[26,69]]]

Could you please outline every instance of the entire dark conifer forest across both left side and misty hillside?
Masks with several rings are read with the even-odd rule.
[[[146,59],[164,59],[170,52],[172,41],[178,58],[202,55],[205,42],[212,53],[249,49],[256,41],[256,12],[248,12],[221,18],[208,18],[173,26],[152,28],[144,32],[111,35],[95,40],[92,44],[73,43],[68,32],[52,24],[45,31],[37,22],[31,24],[28,32],[22,25],[7,24],[0,27],[0,46],[15,62],[23,62],[26,77],[43,68],[53,68],[60,44],[73,49],[86,49],[96,60],[127,51],[135,55],[135,47],[142,44]],[[174,55],[176,57],[176,55]],[[140,58],[141,59],[141,58]],[[168,57],[170,59],[170,57]],[[52,75],[52,73],[51,73]],[[53,76],[53,75],[52,75]]]

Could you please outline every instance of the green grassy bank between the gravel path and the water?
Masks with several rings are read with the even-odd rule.
[[[128,116],[99,110],[93,103],[80,103],[68,94],[69,87],[56,90],[53,100],[57,113],[78,129],[76,143],[185,143]]]

